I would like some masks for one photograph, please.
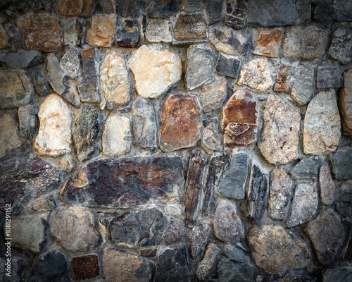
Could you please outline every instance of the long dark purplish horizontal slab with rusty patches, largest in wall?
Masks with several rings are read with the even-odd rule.
[[[179,157],[89,161],[65,183],[61,199],[88,207],[122,208],[138,207],[149,200],[179,202],[183,170]]]

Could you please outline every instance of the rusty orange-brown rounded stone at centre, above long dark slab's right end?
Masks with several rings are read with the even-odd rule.
[[[201,128],[201,108],[196,96],[171,94],[161,111],[161,149],[171,152],[194,146],[201,137]]]

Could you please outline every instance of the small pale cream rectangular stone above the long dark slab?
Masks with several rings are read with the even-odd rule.
[[[132,146],[130,118],[109,116],[103,131],[103,153],[118,157],[130,152]]]

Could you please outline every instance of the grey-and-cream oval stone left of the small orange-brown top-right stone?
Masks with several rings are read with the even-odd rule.
[[[209,41],[219,51],[232,56],[245,56],[251,49],[251,38],[229,27],[213,27]]]

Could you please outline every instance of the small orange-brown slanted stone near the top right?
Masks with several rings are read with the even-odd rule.
[[[279,48],[283,36],[284,30],[274,29],[261,31],[253,54],[267,57],[277,57],[279,55]]]

